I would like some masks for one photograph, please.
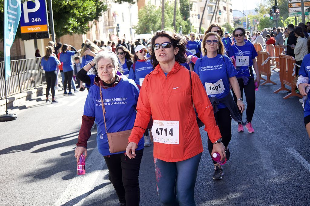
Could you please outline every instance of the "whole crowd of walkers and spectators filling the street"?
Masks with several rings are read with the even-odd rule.
[[[255,89],[260,83],[255,43],[263,49],[268,44],[279,45],[296,59],[297,87],[304,96],[304,121],[310,137],[310,104],[306,101],[309,30],[307,22],[252,34],[239,27],[230,34],[211,24],[204,35],[158,31],[150,40],[135,42],[86,40],[74,61],[71,57],[78,51],[73,46],[50,42],[42,58],[47,101],[50,89],[51,101],[56,101],[58,68],[63,73],[64,95],[72,95],[73,75],[81,91],[85,83],[88,95],[75,157],[78,161],[83,153],[87,156],[91,128],[97,124],[98,150],[121,205],[139,205],[139,168],[144,147],[152,144],[162,204],[195,205],[194,187],[203,152],[199,127],[205,125],[210,156],[218,152],[222,161],[230,158],[232,129],[255,132]],[[232,120],[238,123],[236,128],[232,128]],[[108,134],[122,131],[131,131],[127,147],[110,152]],[[215,161],[213,165],[212,179],[222,179],[223,166]]]

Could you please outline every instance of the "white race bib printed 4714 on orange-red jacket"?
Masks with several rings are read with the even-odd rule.
[[[153,120],[154,142],[179,145],[179,121]]]

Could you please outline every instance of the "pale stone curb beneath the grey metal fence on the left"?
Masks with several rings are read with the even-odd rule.
[[[35,99],[38,96],[45,94],[46,85],[38,86],[34,89],[27,90],[12,96],[7,97],[7,109],[25,105],[26,101]],[[0,100],[0,115],[5,114],[5,98]]]

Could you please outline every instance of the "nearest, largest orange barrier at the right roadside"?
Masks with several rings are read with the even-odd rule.
[[[278,93],[281,90],[289,91],[285,88],[285,85],[291,87],[291,93],[283,97],[283,99],[287,99],[291,96],[298,96],[299,98],[302,98],[303,96],[300,94],[297,94],[295,91],[296,85],[294,85],[293,79],[296,77],[295,71],[294,71],[294,64],[295,59],[292,56],[281,54],[280,55],[280,81],[281,81],[281,88],[274,91],[273,93]]]

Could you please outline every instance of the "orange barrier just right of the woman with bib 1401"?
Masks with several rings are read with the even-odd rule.
[[[267,76],[267,80],[261,78],[262,80],[265,80],[261,85],[267,84],[267,83],[272,83],[272,84],[277,84],[275,82],[272,82],[270,80],[271,77],[271,71],[270,71],[270,54],[268,52],[263,52],[263,51],[258,51],[257,52],[258,56],[257,58],[257,65],[259,69],[259,74],[263,74]]]

